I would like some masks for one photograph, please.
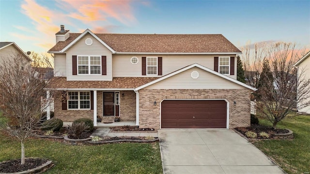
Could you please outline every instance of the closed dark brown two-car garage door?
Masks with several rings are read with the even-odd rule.
[[[161,128],[226,128],[226,105],[223,100],[165,100]]]

